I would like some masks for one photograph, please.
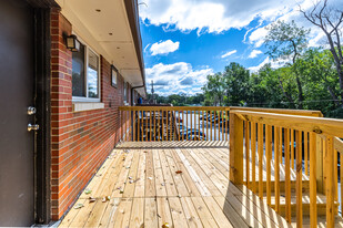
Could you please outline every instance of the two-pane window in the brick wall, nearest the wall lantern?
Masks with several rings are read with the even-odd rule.
[[[100,102],[99,55],[82,44],[72,53],[73,101]]]

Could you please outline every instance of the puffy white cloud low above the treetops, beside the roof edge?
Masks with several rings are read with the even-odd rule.
[[[195,94],[206,82],[206,75],[213,74],[213,70],[210,68],[194,70],[190,63],[185,62],[159,63],[145,69],[145,74],[148,82],[153,80],[158,94],[179,94],[181,91],[186,91],[186,94]]]

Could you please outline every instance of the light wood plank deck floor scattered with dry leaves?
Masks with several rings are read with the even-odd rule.
[[[60,227],[291,227],[228,177],[228,142],[122,143]]]

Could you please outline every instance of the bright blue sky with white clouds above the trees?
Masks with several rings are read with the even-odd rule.
[[[340,0],[331,0],[333,3]],[[144,0],[139,6],[148,91],[195,94],[206,75],[238,62],[255,72],[264,63],[265,27],[275,20],[311,28],[310,45],[323,42],[299,12],[312,0]]]

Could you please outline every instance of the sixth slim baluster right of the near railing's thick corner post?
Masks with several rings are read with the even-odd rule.
[[[285,219],[291,222],[291,166],[290,166],[290,129],[284,128],[284,159],[285,159]]]

